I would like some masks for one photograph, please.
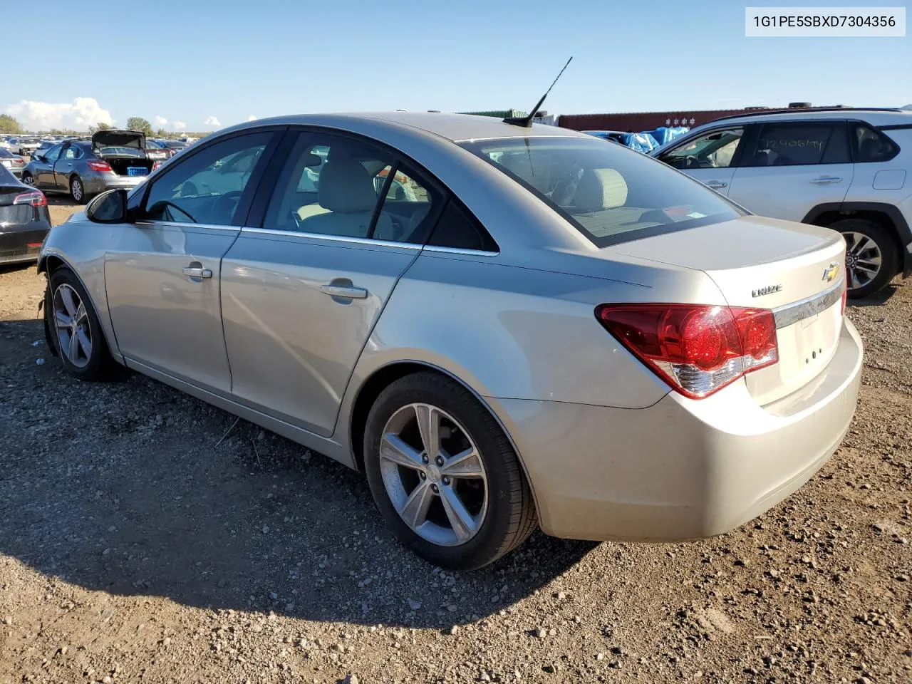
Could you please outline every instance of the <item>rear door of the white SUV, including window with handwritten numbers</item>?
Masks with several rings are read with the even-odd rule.
[[[854,174],[845,120],[772,121],[751,131],[729,197],[751,212],[803,221],[842,202]]]

